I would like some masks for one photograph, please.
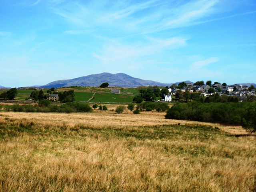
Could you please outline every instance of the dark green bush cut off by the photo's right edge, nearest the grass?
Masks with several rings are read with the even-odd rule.
[[[256,102],[252,102],[246,107],[242,126],[256,132]]]

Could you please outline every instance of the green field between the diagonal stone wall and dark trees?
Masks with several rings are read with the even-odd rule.
[[[96,93],[92,102],[132,102],[133,95],[122,95],[122,94],[108,94],[108,93]]]

